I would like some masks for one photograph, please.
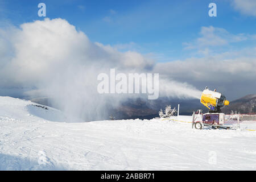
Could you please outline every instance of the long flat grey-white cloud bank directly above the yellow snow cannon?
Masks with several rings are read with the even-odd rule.
[[[189,58],[159,63],[155,72],[179,82],[189,82],[196,88],[217,88],[230,99],[255,94],[256,47],[230,51],[214,56]]]

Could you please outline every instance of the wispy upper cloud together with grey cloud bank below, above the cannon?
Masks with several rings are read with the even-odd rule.
[[[224,28],[201,27],[200,37],[183,43],[193,55],[185,60],[157,64],[156,72],[176,81],[187,81],[197,88],[213,85],[238,98],[256,90],[256,47],[235,50],[234,44],[254,40],[255,35],[232,34]],[[171,71],[170,71],[171,70]]]

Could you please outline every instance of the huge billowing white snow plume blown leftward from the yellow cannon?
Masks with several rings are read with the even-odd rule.
[[[84,32],[60,18],[0,30],[0,91],[17,88],[19,95],[51,98],[52,106],[86,121],[108,118],[106,107],[134,97],[99,94],[100,73],[112,68],[126,74],[150,73],[156,64],[138,52],[90,42]],[[162,96],[199,98],[199,90],[189,84],[159,79]]]

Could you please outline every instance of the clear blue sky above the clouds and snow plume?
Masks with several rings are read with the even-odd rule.
[[[42,20],[38,3],[47,7],[47,18],[63,18],[85,32],[92,42],[110,44],[120,51],[128,49],[154,55],[156,61],[186,59],[195,55],[194,49],[185,49],[200,36],[201,27],[224,28],[230,34],[255,34],[255,16],[237,11],[232,0],[222,1],[32,1],[1,0],[2,24],[15,26]],[[217,17],[208,15],[209,3],[217,5]],[[241,49],[255,45],[245,41],[234,42],[216,51]]]

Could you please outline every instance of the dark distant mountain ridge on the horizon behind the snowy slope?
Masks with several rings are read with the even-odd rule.
[[[52,106],[51,102],[49,102],[49,98],[35,98],[31,101]],[[118,107],[114,108],[111,105],[108,105],[106,108],[108,108],[109,115],[112,114],[115,119],[151,119],[159,117],[158,111],[160,109],[164,110],[166,105],[171,105],[177,109],[178,104],[180,104],[180,115],[192,115],[193,111],[197,111],[198,109],[203,110],[203,113],[208,111],[207,107],[200,103],[200,100],[179,100],[167,97],[162,97],[158,100],[147,100],[145,98],[128,99],[123,101]],[[222,112],[230,114],[232,110],[237,112],[240,111],[240,113],[256,113],[256,94],[250,94],[230,102],[230,105],[224,107]]]

